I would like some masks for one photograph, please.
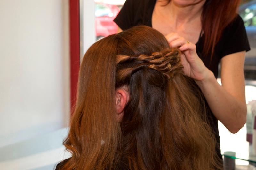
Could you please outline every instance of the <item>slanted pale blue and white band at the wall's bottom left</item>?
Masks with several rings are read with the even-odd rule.
[[[64,152],[62,140],[69,128],[36,136],[28,140],[0,147],[1,170],[53,170],[63,159],[71,156]]]

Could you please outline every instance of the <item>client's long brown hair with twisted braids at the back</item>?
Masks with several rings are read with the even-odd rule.
[[[180,51],[164,35],[136,26],[94,43],[84,55],[68,137],[72,157],[57,169],[218,167],[204,100],[182,74]],[[116,120],[115,90],[130,99]]]

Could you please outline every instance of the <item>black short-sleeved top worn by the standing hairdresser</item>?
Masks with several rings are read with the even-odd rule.
[[[132,26],[146,25],[152,27],[152,13],[154,10],[156,0],[126,0],[123,8],[114,19],[114,22],[122,29],[126,30]],[[224,29],[223,35],[220,41],[216,44],[215,50],[212,56],[212,61],[210,63],[211,54],[202,56],[204,45],[204,34],[200,36],[198,42],[196,43],[197,55],[203,60],[205,66],[214,73],[215,78],[218,76],[218,65],[222,57],[240,52],[249,51],[250,46],[244,27],[244,22],[242,18],[237,15],[237,17]],[[207,102],[206,102],[207,104]],[[209,106],[207,106],[210,125],[215,132],[215,137],[217,140],[216,152],[222,159],[220,154],[220,136],[218,130],[218,121],[213,115]]]

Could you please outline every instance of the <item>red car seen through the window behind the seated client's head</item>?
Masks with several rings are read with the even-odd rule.
[[[117,33],[118,26],[113,21],[121,6],[95,3],[95,28],[97,40]]]

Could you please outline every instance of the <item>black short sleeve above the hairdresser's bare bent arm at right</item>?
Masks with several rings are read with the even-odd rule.
[[[220,41],[223,41],[223,47],[220,58],[232,53],[249,51],[251,49],[244,21],[239,15],[224,29],[221,39]]]

